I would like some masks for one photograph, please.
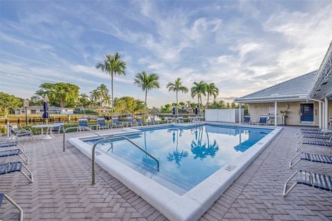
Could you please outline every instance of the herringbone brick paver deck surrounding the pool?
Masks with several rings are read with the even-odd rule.
[[[299,185],[282,197],[284,182],[296,169],[332,175],[331,164],[300,162],[294,169],[288,168],[296,153],[297,130],[284,127],[201,220],[332,220],[331,192]],[[82,133],[68,134],[77,136]],[[62,136],[24,144],[35,182],[29,184],[20,173],[1,175],[0,193],[7,193],[21,206],[25,220],[166,220],[99,166],[96,184],[91,186],[91,160],[74,147],[63,153]],[[319,146],[304,146],[302,151],[329,152]],[[17,218],[17,210],[4,200],[0,219]]]

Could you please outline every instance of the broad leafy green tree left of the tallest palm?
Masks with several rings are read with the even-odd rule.
[[[48,96],[50,104],[54,106],[74,107],[79,97],[80,87],[69,83],[44,83],[39,86],[39,90],[35,93],[41,97]]]

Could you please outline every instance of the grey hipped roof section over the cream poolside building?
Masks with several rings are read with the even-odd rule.
[[[306,99],[313,81],[317,74],[317,70],[289,79],[280,84],[270,86],[263,90],[259,90],[255,93],[239,97],[235,99],[235,102],[264,102],[271,100],[289,100],[289,99]]]

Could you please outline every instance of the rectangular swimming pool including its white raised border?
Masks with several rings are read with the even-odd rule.
[[[155,160],[127,140],[101,142],[95,157],[170,220],[196,220],[280,130],[214,123],[139,127],[126,136],[158,160],[159,171]],[[99,140],[79,137],[69,142],[91,157]]]

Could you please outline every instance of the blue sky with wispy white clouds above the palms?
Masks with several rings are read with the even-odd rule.
[[[114,97],[144,100],[136,73],[160,76],[148,106],[175,102],[166,84],[214,82],[232,100],[317,70],[332,40],[332,1],[0,1],[0,91],[34,95],[44,82],[89,94],[95,69],[120,52]],[[192,100],[190,93],[180,101]]]

